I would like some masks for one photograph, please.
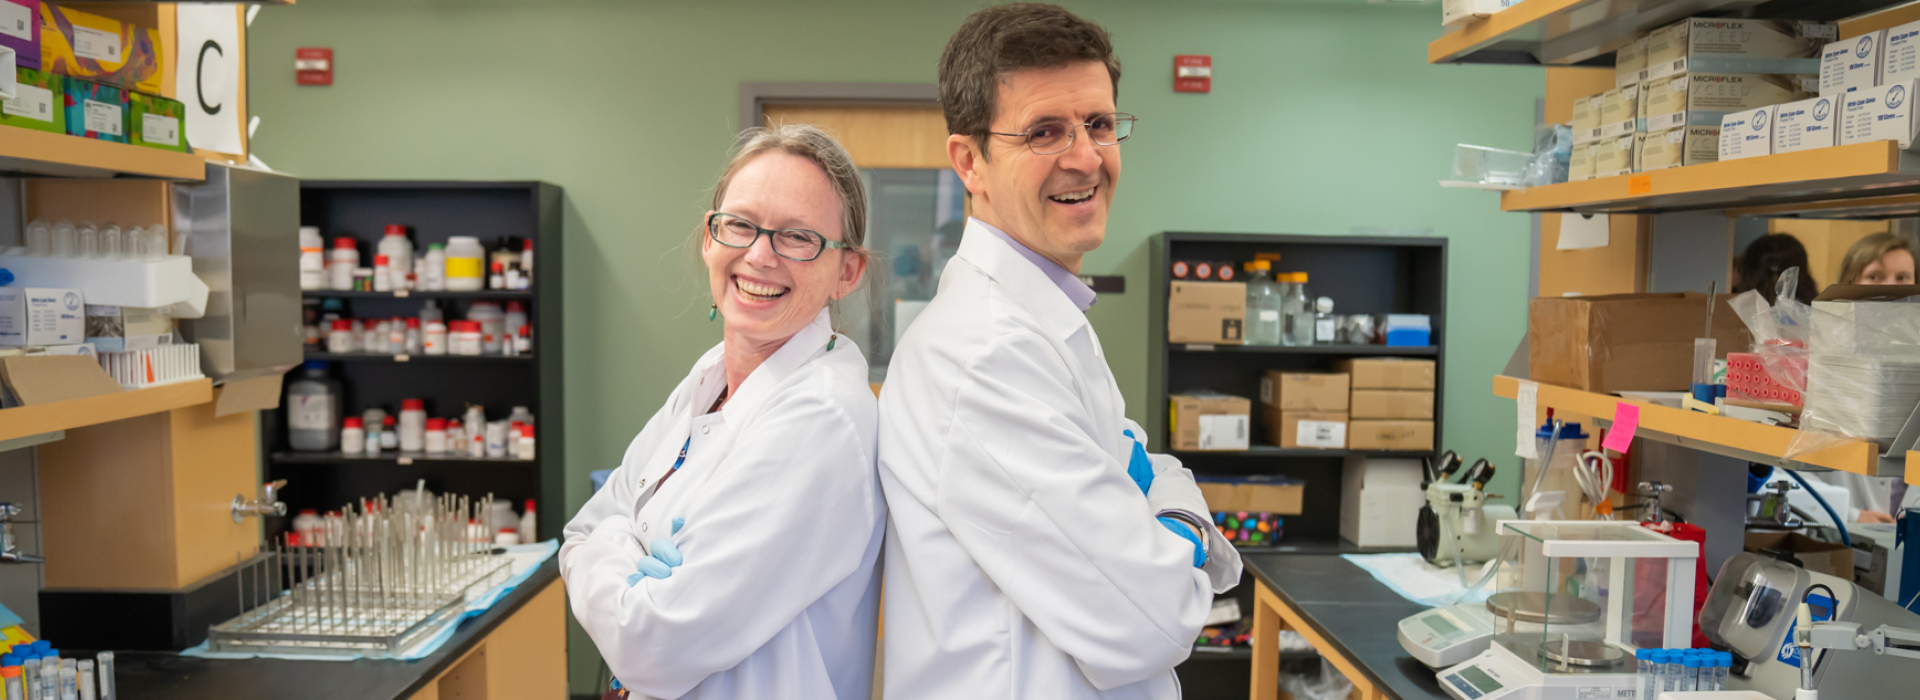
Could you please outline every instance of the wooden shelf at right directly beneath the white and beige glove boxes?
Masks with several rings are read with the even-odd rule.
[[[1757,209],[1849,219],[1849,201],[1920,194],[1920,157],[1872,142],[1548,184],[1500,194],[1503,211],[1659,213]],[[1920,209],[1920,203],[1907,201]],[[1857,211],[1853,211],[1857,213]]]

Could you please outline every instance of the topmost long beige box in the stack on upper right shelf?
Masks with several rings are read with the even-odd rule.
[[[1692,17],[1647,33],[1647,81],[1688,71],[1820,73],[1832,23]]]

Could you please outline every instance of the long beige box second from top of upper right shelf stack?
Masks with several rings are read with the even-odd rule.
[[[1680,73],[1647,82],[1647,132],[1718,127],[1728,113],[1814,98],[1818,90],[1818,75]]]

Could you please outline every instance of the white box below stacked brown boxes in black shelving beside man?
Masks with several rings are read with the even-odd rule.
[[[1421,462],[1348,455],[1340,472],[1340,539],[1359,547],[1413,547],[1427,493]]]

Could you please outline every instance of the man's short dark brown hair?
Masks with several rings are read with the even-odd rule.
[[[941,111],[948,134],[973,136],[981,148],[998,109],[1000,77],[1094,61],[1106,65],[1119,98],[1119,59],[1106,29],[1066,8],[1016,2],[966,17],[941,52]]]

